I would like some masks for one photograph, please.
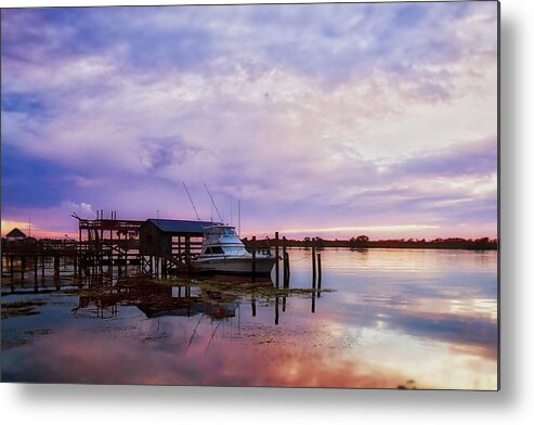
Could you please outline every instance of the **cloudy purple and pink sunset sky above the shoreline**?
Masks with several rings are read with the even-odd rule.
[[[497,3],[3,9],[2,235],[495,237]]]

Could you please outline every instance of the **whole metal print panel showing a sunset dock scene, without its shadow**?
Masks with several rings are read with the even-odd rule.
[[[3,382],[498,389],[498,3],[3,9]]]

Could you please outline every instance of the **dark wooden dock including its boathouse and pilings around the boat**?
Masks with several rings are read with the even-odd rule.
[[[156,279],[191,274],[191,259],[200,253],[203,229],[211,222],[148,219],[121,220],[115,211],[104,218],[100,210],[95,219],[78,220],[78,240],[2,240],[2,278],[35,282],[45,275],[113,278],[144,274]],[[287,240],[278,232],[263,246],[263,241],[244,240],[252,254],[251,276],[255,278],[256,254],[274,248],[275,284],[289,286],[290,266]],[[281,255],[282,253],[282,255]],[[321,255],[312,240],[313,287],[321,287]],[[282,260],[282,273],[279,267]],[[282,282],[281,282],[282,274]]]

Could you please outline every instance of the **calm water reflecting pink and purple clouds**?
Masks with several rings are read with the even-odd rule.
[[[2,381],[496,388],[495,252],[321,253],[321,294],[2,279]],[[308,255],[290,250],[291,288],[312,286]]]

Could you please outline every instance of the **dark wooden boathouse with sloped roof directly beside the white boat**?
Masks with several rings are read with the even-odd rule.
[[[214,224],[220,223],[149,218],[139,229],[140,254],[158,257],[191,254],[199,249],[204,228]]]

